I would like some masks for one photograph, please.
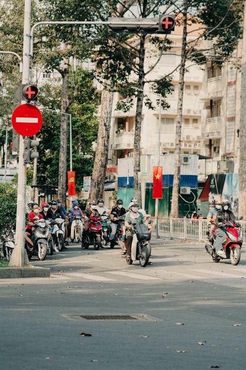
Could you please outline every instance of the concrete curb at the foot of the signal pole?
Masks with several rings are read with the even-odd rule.
[[[20,279],[31,277],[50,277],[47,267],[1,267],[0,279]]]

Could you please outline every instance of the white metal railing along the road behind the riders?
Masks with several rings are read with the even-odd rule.
[[[156,217],[152,217],[152,230],[156,234]],[[158,235],[170,239],[205,241],[207,220],[166,219],[158,217]],[[246,242],[246,221],[240,221],[241,232]]]

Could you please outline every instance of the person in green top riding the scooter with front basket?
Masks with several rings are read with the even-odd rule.
[[[125,227],[127,229],[126,231],[126,259],[134,261],[135,256],[131,256],[131,243],[133,239],[133,235],[135,234],[135,231],[132,228],[133,223],[144,223],[149,229],[151,228],[151,225],[148,223],[146,218],[143,216],[141,212],[138,211],[139,205],[137,202],[130,202],[129,211],[126,213],[125,216]],[[130,222],[130,223],[129,223]]]

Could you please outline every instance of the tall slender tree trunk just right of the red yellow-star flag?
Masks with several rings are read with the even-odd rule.
[[[173,218],[179,217],[179,186],[180,186],[180,154],[181,154],[181,127],[184,96],[184,69],[186,60],[186,37],[187,37],[187,0],[184,0],[183,10],[184,31],[182,38],[181,65],[178,92],[178,116],[176,124],[175,151],[174,151],[174,177],[171,214]]]

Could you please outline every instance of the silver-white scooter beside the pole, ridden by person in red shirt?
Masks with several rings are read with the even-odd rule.
[[[31,259],[32,256],[37,256],[39,260],[43,260],[47,254],[49,226],[48,223],[42,219],[34,221],[33,228],[34,230],[31,237],[33,246],[28,241],[25,241],[25,249],[29,259]]]

